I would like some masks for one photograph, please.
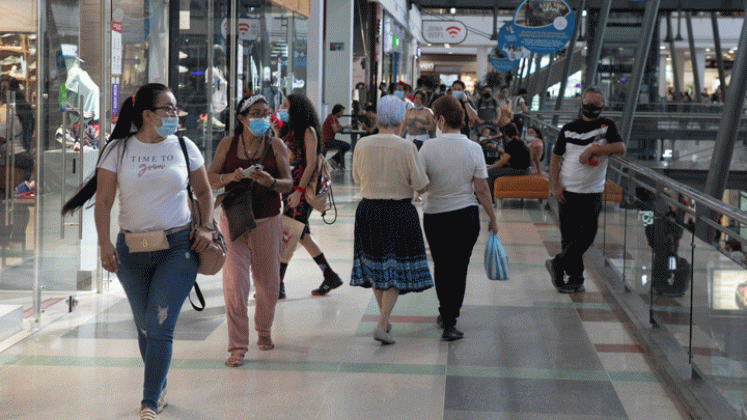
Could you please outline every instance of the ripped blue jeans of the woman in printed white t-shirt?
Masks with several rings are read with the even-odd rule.
[[[141,406],[153,410],[166,385],[176,319],[197,278],[197,256],[189,249],[189,229],[167,238],[169,249],[130,253],[124,234],[117,237],[117,277],[132,308],[145,363]]]

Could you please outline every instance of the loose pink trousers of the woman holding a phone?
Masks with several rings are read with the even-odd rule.
[[[220,228],[228,232],[225,213]],[[228,351],[244,354],[249,349],[249,315],[247,313],[251,278],[254,278],[256,302],[254,329],[269,336],[275,318],[275,304],[280,290],[280,244],[283,224],[280,215],[259,220],[249,235],[227,241],[228,252],[223,265],[223,298],[228,319]]]

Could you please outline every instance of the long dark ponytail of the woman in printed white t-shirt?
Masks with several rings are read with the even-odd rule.
[[[99,155],[99,162],[104,158],[104,154],[108,155],[111,153],[117,147],[118,143],[121,142],[123,146],[126,146],[127,139],[137,133],[143,126],[143,111],[152,111],[153,107],[156,106],[158,96],[163,92],[171,92],[171,89],[161,83],[149,83],[141,86],[135,95],[125,99],[119,111],[117,124],[114,126],[114,130],[112,130],[112,134],[109,136],[103,152]],[[135,131],[132,130],[133,125],[135,126]],[[65,147],[65,145],[63,144],[62,147]],[[98,163],[96,166],[98,166]],[[63,215],[73,212],[78,207],[82,207],[96,194],[96,172],[94,171],[93,176],[62,206]]]

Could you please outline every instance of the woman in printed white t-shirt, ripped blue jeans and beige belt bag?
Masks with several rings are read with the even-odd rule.
[[[63,207],[63,213],[71,212],[96,194],[101,263],[117,273],[127,294],[145,364],[141,419],[155,418],[165,406],[174,326],[197,277],[196,252],[212,241],[211,226],[199,226],[191,234],[188,181],[202,220],[213,220],[213,196],[200,150],[184,139],[187,166],[174,135],[177,113],[174,94],[159,83],[145,85],[127,98],[96,174]],[[131,132],[132,125],[136,132]],[[117,190],[120,231],[115,247],[110,215]]]

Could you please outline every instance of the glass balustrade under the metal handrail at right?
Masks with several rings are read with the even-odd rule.
[[[747,264],[740,223],[718,215],[723,230],[706,236],[699,233],[706,221],[696,212],[703,204],[686,188],[676,193],[644,174],[633,178],[637,182],[621,182],[630,193],[620,206],[607,204],[598,245],[625,290],[641,298],[650,320],[671,334],[690,365],[681,366],[688,358],[677,356],[670,362],[683,371],[691,366],[741,411],[747,406]],[[740,194],[734,196],[739,204]]]

